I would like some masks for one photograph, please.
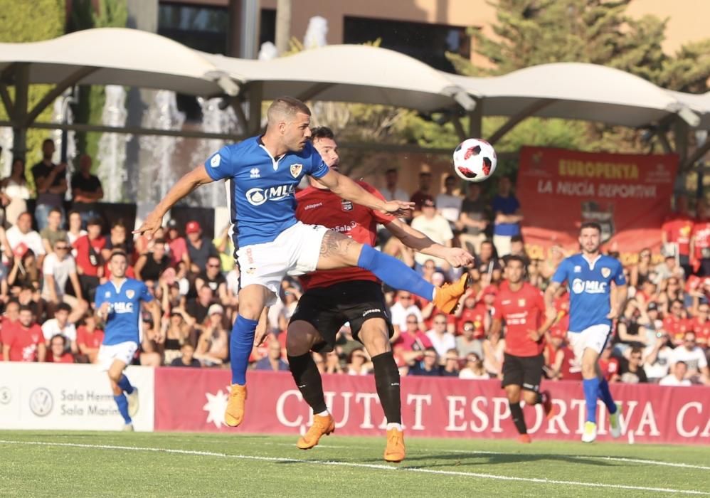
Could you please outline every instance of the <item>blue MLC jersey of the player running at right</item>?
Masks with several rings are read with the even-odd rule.
[[[569,330],[582,332],[593,325],[609,325],[611,282],[626,285],[619,260],[599,255],[589,263],[581,254],[563,260],[552,277],[553,282],[567,282],[569,287]]]

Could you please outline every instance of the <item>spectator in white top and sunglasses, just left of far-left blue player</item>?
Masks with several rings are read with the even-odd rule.
[[[71,322],[77,322],[87,311],[88,305],[83,300],[81,284],[76,269],[76,262],[70,253],[70,245],[66,239],[57,240],[54,244],[53,252],[44,258],[42,273],[44,283],[42,287],[42,299],[49,305],[49,313],[60,303],[66,303],[73,309]],[[74,295],[68,295],[65,290],[68,282],[71,282]]]

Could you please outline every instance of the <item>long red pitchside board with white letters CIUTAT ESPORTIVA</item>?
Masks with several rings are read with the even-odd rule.
[[[238,429],[226,427],[229,373],[194,369],[156,371],[156,430],[226,433],[304,433],[310,410],[289,373],[249,372],[247,415]],[[372,376],[326,375],[326,401],[341,435],[381,435],[386,426]],[[189,386],[188,389],[185,386]],[[545,383],[557,413],[547,420],[540,406],[527,407],[529,433],[548,440],[579,440],[584,425],[580,382]],[[622,403],[622,430],[635,442],[710,444],[710,406],[705,387],[669,388],[614,384]],[[515,438],[499,381],[452,378],[402,379],[402,415],[407,434],[436,438]],[[600,404],[600,440],[610,440]]]

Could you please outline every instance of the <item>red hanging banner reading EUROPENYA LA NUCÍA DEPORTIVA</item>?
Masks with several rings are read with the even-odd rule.
[[[606,247],[627,263],[645,247],[657,252],[678,167],[674,154],[610,154],[523,147],[516,196],[531,258],[553,244],[578,249],[579,226],[595,221]]]

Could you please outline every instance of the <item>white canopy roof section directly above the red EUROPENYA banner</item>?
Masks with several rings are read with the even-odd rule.
[[[595,64],[551,63],[492,78],[449,78],[480,99],[484,115],[514,116],[531,108],[539,117],[642,127],[684,107],[647,80]]]

